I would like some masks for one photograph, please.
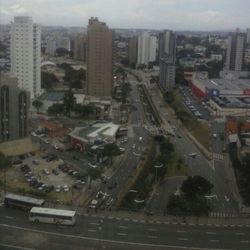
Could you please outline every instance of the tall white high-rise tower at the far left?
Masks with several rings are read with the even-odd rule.
[[[30,92],[31,98],[41,94],[41,27],[29,16],[16,16],[11,23],[11,72],[18,87]]]

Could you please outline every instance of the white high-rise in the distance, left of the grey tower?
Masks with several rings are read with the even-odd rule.
[[[144,31],[138,36],[137,64],[147,65],[156,59],[157,38]]]

